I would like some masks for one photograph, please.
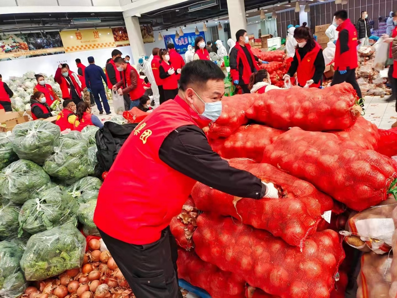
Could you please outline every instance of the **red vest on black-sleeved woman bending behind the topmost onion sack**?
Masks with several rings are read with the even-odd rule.
[[[314,46],[311,51],[307,52],[303,59],[299,56],[298,50],[295,50],[295,55],[298,58],[297,78],[299,85],[302,87],[306,85],[308,80],[312,79],[314,72],[316,71],[314,68],[314,60],[316,60],[321,46],[316,41],[314,43],[316,43],[316,46]],[[310,85],[310,88],[311,87],[320,87],[320,81],[318,81],[318,83],[312,83],[312,85]]]

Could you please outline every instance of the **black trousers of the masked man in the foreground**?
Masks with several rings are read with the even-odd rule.
[[[137,298],[183,298],[178,285],[177,244],[169,226],[160,240],[145,245],[129,244],[99,232]]]

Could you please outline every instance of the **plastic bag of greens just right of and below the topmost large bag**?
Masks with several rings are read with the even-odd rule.
[[[50,176],[72,184],[88,176],[88,147],[85,142],[69,138],[60,138],[59,146],[44,161],[43,169]]]

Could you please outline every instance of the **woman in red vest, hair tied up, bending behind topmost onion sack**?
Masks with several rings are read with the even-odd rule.
[[[305,26],[298,27],[294,31],[296,46],[294,60],[283,79],[287,80],[297,73],[298,84],[301,87],[320,87],[325,70],[324,56],[321,46],[310,34],[310,29]]]

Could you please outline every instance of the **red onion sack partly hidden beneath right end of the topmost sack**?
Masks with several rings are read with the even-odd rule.
[[[343,141],[344,145],[351,145],[370,150],[376,150],[378,148],[378,142],[380,139],[378,127],[366,120],[364,117],[358,117],[356,123],[346,130],[332,133],[337,135],[337,137]]]

